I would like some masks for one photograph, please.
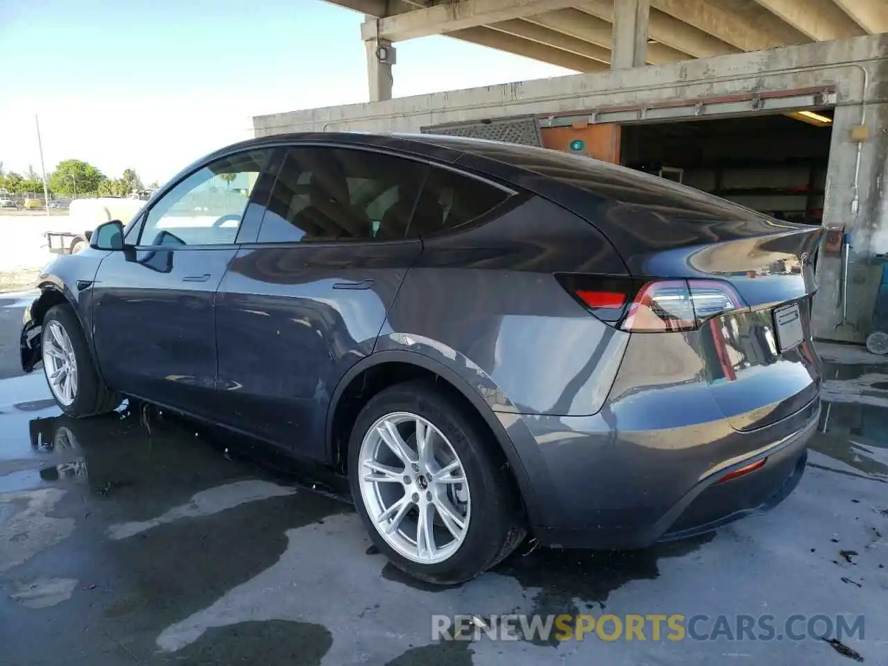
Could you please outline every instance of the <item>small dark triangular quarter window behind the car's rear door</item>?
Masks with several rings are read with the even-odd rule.
[[[432,167],[408,236],[418,238],[467,225],[510,196],[511,193],[475,178]]]

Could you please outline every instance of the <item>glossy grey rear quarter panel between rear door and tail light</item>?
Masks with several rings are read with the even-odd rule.
[[[629,335],[587,313],[554,274],[624,271],[594,227],[532,198],[484,226],[425,241],[377,350],[439,356],[494,411],[593,414]]]

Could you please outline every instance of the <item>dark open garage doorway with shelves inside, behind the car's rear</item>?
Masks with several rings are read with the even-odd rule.
[[[792,222],[820,225],[832,109],[624,125],[620,162]]]

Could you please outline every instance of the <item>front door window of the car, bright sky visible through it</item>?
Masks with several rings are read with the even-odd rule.
[[[233,243],[267,155],[240,153],[194,171],[148,210],[139,244]]]

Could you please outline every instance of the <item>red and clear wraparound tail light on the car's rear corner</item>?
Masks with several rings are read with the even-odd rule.
[[[556,277],[601,321],[636,333],[693,330],[719,314],[746,308],[733,287],[718,280],[641,282],[597,275]]]

